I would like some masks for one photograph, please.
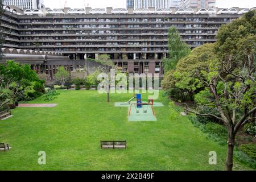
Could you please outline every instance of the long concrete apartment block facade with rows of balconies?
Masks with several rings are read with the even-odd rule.
[[[6,7],[5,7],[6,8]],[[10,8],[10,7],[9,7]],[[216,42],[218,28],[249,9],[6,9],[1,27],[7,48],[61,52],[72,60],[108,54],[124,71],[160,73],[168,57],[168,28],[189,47]],[[15,11],[14,11],[15,10]],[[193,12],[192,12],[193,11]]]

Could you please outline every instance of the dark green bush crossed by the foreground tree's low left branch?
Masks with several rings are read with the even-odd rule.
[[[220,117],[220,113],[219,113],[218,109],[216,109],[214,107],[209,107],[209,106],[204,106],[203,109],[199,110],[199,113],[201,113],[201,114],[210,113],[210,114],[214,114],[214,115],[217,115],[218,117]],[[220,123],[220,121],[214,117],[203,117],[201,115],[197,115],[196,118],[197,118],[197,121],[199,121],[200,123],[209,123],[209,122]]]

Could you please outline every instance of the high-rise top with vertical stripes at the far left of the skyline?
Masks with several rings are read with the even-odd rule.
[[[20,9],[41,9],[44,6],[44,2],[43,0],[3,0],[3,5],[13,5]]]

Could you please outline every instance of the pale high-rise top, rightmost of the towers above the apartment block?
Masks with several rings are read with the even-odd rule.
[[[181,7],[183,8],[205,8],[216,7],[216,0],[183,0]]]

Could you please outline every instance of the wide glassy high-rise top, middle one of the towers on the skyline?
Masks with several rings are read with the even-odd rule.
[[[154,7],[155,9],[163,9],[170,7],[180,7],[183,0],[127,0],[127,8],[133,9],[148,9]]]

